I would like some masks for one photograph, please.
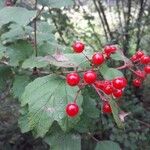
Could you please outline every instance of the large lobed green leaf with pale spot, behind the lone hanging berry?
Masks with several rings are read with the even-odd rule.
[[[65,113],[68,102],[73,102],[78,87],[66,85],[65,80],[56,75],[37,78],[25,88],[21,98],[21,105],[28,104],[28,124],[37,137],[45,136],[52,123],[57,121],[63,130],[73,128],[79,121],[80,114],[69,118]],[[59,94],[58,94],[59,93]],[[82,104],[79,94],[77,103]]]

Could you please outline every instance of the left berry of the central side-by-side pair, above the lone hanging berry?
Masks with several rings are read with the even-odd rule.
[[[77,73],[67,74],[66,81],[70,86],[76,86],[80,82],[80,76]]]

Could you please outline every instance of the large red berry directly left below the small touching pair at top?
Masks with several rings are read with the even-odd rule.
[[[101,53],[96,53],[92,57],[92,63],[94,65],[101,65],[104,62],[104,56]]]

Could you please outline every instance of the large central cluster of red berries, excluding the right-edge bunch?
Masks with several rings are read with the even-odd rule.
[[[72,46],[73,51],[76,53],[83,53],[85,45],[82,42],[75,42]],[[69,86],[79,86],[80,89],[86,85],[91,85],[100,99],[103,101],[102,111],[104,113],[111,113],[111,107],[108,99],[112,96],[116,99],[123,95],[123,90],[127,85],[124,77],[115,78],[112,81],[102,81],[98,78],[98,72],[94,70],[97,66],[103,64],[110,55],[115,53],[117,47],[114,45],[105,46],[102,53],[94,53],[92,59],[88,59],[92,64],[92,68],[79,75],[77,72],[71,72],[66,76],[66,82]],[[82,77],[81,77],[82,76]],[[77,96],[73,103],[66,106],[66,113],[70,117],[75,117],[79,113],[79,106],[76,103]]]

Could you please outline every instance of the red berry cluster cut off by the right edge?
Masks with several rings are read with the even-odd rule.
[[[133,62],[135,70],[131,70],[134,74],[133,85],[140,87],[146,76],[150,74],[150,56],[143,51],[137,51],[130,60]]]

